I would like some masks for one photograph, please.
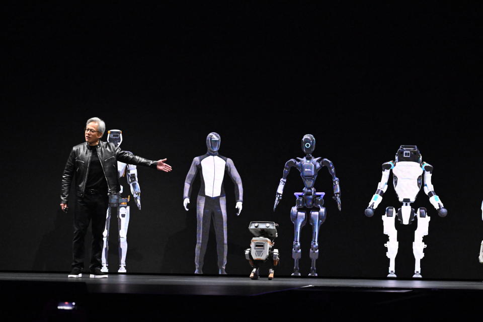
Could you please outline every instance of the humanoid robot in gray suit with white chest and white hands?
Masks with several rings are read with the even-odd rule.
[[[201,176],[201,188],[196,199],[196,248],[195,274],[203,274],[203,260],[205,257],[211,220],[213,220],[216,235],[216,251],[218,253],[218,274],[226,274],[227,233],[226,233],[226,197],[223,188],[225,172],[235,186],[236,215],[241,212],[243,203],[243,186],[241,178],[233,161],[218,154],[221,137],[211,132],[206,137],[206,154],[196,156],[186,175],[183,191],[183,206],[188,211],[193,180],[198,171]]]

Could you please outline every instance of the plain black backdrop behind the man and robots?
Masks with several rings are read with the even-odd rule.
[[[60,175],[86,120],[97,116],[123,131],[123,149],[168,157],[174,169],[138,168],[142,210],[131,203],[128,272],[194,271],[196,214],[182,207],[183,184],[216,131],[245,190],[236,217],[225,183],[228,273],[250,271],[243,250],[251,220],[280,224],[277,274],[291,273],[289,213],[303,187],[296,171],[272,207],[284,163],[303,156],[300,140],[311,133],[314,155],[332,160],[342,188],[339,213],[321,170],[316,189],[327,194],[328,219],[319,276],[387,274],[380,216],[399,206],[392,185],[374,217],[363,211],[380,165],[400,144],[416,144],[448,209],[440,218],[422,192],[414,203],[432,218],[422,274],[481,278],[481,5],[43,4],[4,13],[1,270],[69,269],[74,209],[58,210]],[[116,226],[113,218],[111,269]],[[414,271],[415,228],[397,224],[400,277]],[[303,274],[310,229],[302,230]],[[204,272],[217,272],[214,235]]]

